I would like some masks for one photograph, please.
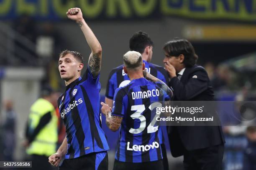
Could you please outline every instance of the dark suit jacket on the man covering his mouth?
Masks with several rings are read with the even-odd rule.
[[[174,90],[174,101],[214,99],[214,92],[207,72],[199,65],[186,67],[181,79],[173,77],[169,86]],[[208,148],[225,143],[220,126],[170,126],[167,129],[174,157],[183,155],[184,150]]]

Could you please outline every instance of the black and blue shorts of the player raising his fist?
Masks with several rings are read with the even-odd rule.
[[[74,159],[65,159],[59,170],[108,170],[108,153],[90,153]]]

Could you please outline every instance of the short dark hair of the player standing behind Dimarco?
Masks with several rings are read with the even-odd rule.
[[[146,32],[138,31],[130,38],[129,46],[131,51],[143,53],[147,46],[153,46],[154,43]]]

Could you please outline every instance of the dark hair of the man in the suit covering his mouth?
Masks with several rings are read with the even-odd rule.
[[[194,47],[188,40],[175,38],[166,42],[163,49],[169,57],[179,57],[179,55],[183,54],[183,64],[185,67],[192,67],[197,63],[198,56],[195,53]]]

